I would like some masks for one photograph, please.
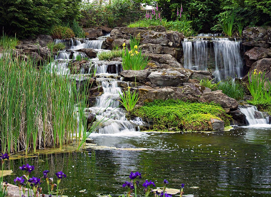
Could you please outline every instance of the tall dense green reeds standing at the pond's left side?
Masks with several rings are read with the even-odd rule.
[[[46,66],[37,71],[32,62],[8,54],[0,58],[1,151],[27,154],[46,147],[62,149],[86,124],[84,118],[83,126],[77,121],[84,117],[86,88],[78,91],[68,75]]]

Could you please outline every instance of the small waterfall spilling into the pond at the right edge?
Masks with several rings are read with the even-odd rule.
[[[238,108],[246,116],[249,125],[269,124],[269,116],[264,112],[258,111],[257,107],[244,104],[239,105]]]

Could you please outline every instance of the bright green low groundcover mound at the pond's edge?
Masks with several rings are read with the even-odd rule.
[[[190,103],[180,100],[155,100],[145,103],[131,112],[136,117],[153,122],[150,130],[195,130],[196,128],[211,128],[210,118],[223,120],[229,125],[230,116],[225,110],[214,103]]]

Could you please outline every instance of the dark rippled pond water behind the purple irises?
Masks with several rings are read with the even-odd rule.
[[[271,196],[271,128],[91,134],[91,138],[101,146],[146,150],[89,149],[11,160],[7,168],[14,170],[14,175],[5,178],[12,183],[22,175],[19,166],[29,163],[35,165],[35,176],[42,176],[45,169],[51,171],[51,176],[60,170],[65,172],[67,178],[61,182],[61,189],[69,197],[123,194],[126,188],[122,184],[129,181],[131,171],[142,173],[141,185],[145,179],[155,181],[158,187],[167,179],[168,187],[177,189],[185,183],[189,196]],[[138,191],[142,190],[140,186]]]

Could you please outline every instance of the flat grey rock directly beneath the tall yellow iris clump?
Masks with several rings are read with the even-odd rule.
[[[125,81],[142,81],[146,80],[146,78],[150,75],[150,71],[148,70],[139,70],[139,71],[133,71],[133,70],[123,70],[121,71],[120,75],[124,77]]]

